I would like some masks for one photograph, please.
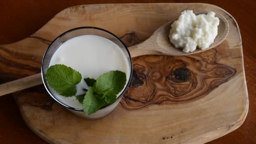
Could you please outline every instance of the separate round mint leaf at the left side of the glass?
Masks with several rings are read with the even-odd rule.
[[[82,76],[71,67],[56,64],[47,69],[46,79],[61,96],[74,96],[77,92],[75,85],[80,83]]]

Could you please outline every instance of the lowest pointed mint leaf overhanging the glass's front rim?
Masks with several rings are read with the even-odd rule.
[[[106,105],[106,102],[98,98],[94,93],[94,88],[89,88],[85,94],[85,99],[83,100],[83,111],[86,115],[91,115],[97,112],[101,107]]]

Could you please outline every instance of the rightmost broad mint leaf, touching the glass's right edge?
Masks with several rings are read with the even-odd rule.
[[[93,85],[94,91],[98,94],[113,93],[118,94],[122,91],[126,83],[126,75],[121,71],[109,71],[99,76]],[[109,96],[109,95],[107,95]]]

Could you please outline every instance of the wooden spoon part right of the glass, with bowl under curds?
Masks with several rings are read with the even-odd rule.
[[[218,35],[216,36],[214,42],[210,45],[210,47],[204,50],[197,48],[193,52],[185,53],[182,51],[182,48],[175,48],[169,40],[171,24],[174,21],[167,22],[163,26],[159,27],[147,40],[137,45],[133,45],[128,49],[132,57],[147,54],[185,56],[207,51],[221,44],[225,40],[229,32],[229,24],[227,22],[227,19],[218,13],[216,13],[215,16],[219,18]]]

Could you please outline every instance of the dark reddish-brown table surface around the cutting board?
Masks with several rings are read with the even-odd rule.
[[[0,44],[13,43],[32,35],[54,15],[73,5],[100,3],[210,3],[228,11],[240,27],[243,42],[245,76],[249,94],[249,112],[237,130],[210,144],[256,143],[256,1],[255,0],[0,0]],[[1,56],[0,56],[1,57]],[[3,77],[3,76],[1,76]],[[0,83],[2,83],[0,77]],[[0,143],[46,144],[22,120],[11,95],[0,97]]]

